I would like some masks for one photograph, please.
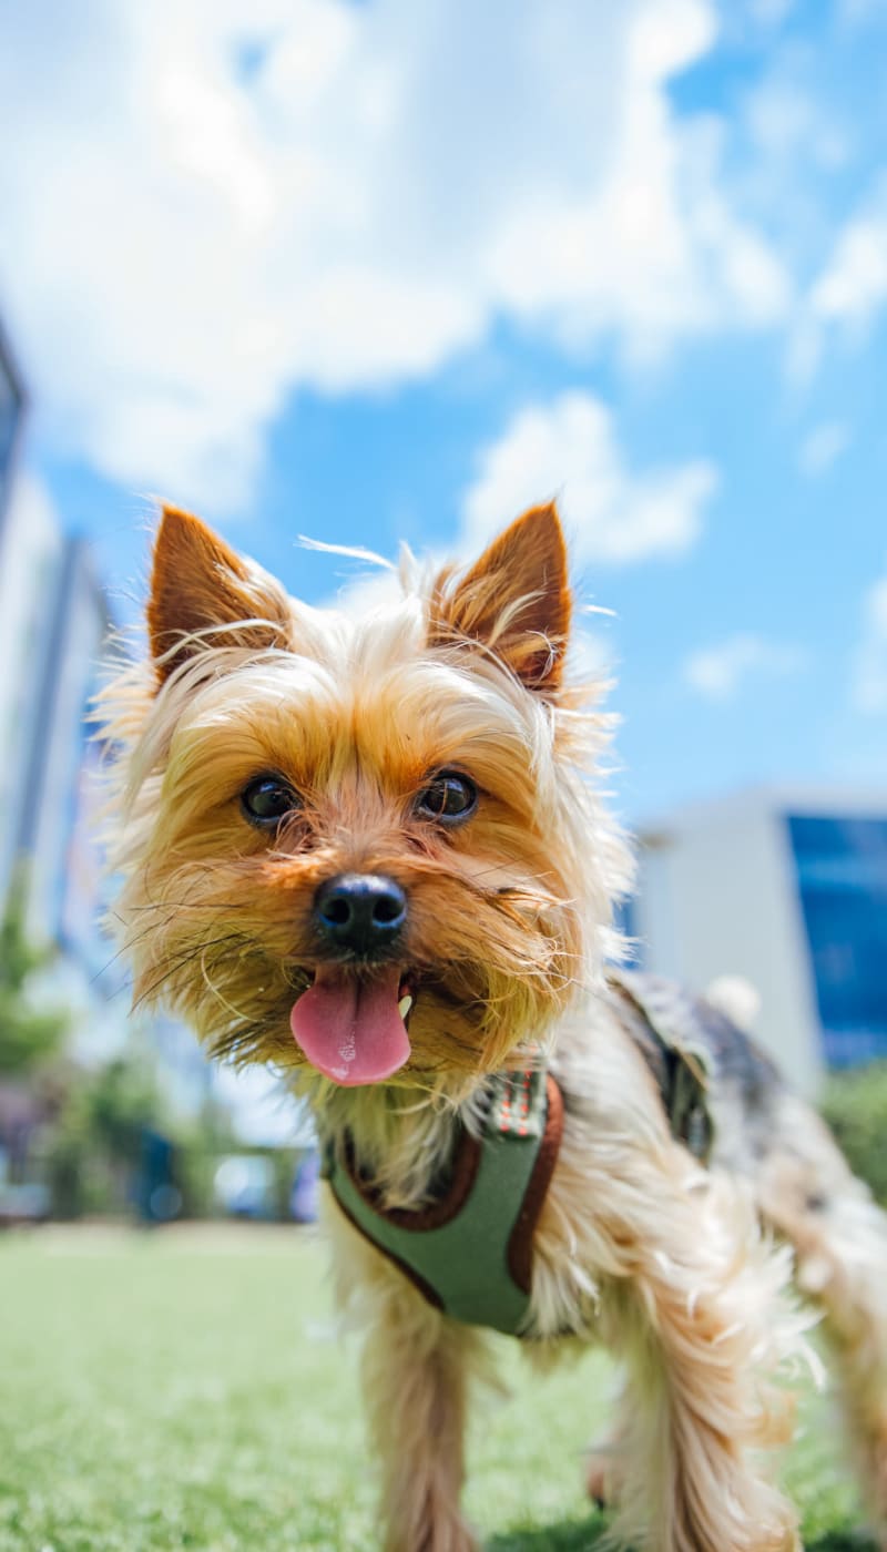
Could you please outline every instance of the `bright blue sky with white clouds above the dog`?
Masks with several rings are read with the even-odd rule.
[[[146,494],[477,549],[558,494],[632,823],[887,781],[882,0],[3,6],[28,462],[118,608]]]

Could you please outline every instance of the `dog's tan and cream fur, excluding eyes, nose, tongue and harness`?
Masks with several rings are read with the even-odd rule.
[[[565,1341],[603,1341],[624,1361],[615,1535],[656,1552],[798,1546],[766,1451],[791,1432],[791,1398],[774,1381],[803,1355],[805,1321],[786,1294],[789,1252],[761,1232],[761,1211],[797,1245],[802,1282],[830,1313],[884,1510],[875,1209],[828,1138],[812,1136],[809,1169],[831,1169],[857,1204],[856,1237],[792,1215],[791,1170],[775,1155],[764,1167],[724,1153],[702,1170],[673,1141],[601,995],[631,861],[595,787],[609,737],[601,686],[570,680],[555,509],[525,514],[468,573],[426,577],[407,556],[402,579],[402,601],[370,616],[320,615],[166,509],[154,661],[104,697],[137,999],[180,1012],[217,1054],[283,1071],[329,1145],[348,1139],[367,1184],[401,1209],[427,1203],[457,1122],[477,1130],[485,1076],[541,1044],[567,1116],[534,1237],[525,1349],[544,1366]],[[444,830],[416,799],[447,768],[469,773],[480,799]],[[241,809],[269,771],[298,793],[277,833]],[[365,1088],[314,1071],[289,1027],[326,962],[315,892],[348,872],[405,891],[401,951],[416,993],[407,1065]],[[368,1324],[387,1547],[468,1552],[463,1420],[486,1369],[483,1336],[427,1305],[336,1206],[329,1220],[340,1302]]]

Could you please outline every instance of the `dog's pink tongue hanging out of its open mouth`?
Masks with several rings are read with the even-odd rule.
[[[401,972],[359,981],[340,968],[320,968],[298,998],[289,1023],[308,1060],[343,1088],[379,1083],[410,1055],[398,1012]]]

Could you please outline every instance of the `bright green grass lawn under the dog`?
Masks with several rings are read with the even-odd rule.
[[[595,1547],[581,1448],[606,1412],[590,1355],[531,1381],[471,1445],[489,1552]],[[323,1248],[295,1229],[48,1229],[0,1238],[0,1552],[371,1552],[357,1346],[331,1330]],[[788,1478],[808,1546],[862,1552],[823,1403]]]

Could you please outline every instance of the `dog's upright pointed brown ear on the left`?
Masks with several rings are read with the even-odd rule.
[[[207,647],[287,647],[283,588],[199,517],[163,506],[148,599],[148,636],[160,681]]]

